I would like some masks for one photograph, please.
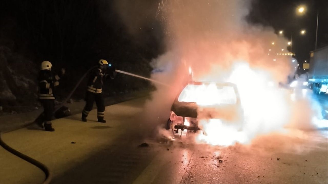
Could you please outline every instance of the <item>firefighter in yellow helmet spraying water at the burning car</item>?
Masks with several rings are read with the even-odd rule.
[[[98,67],[92,70],[88,80],[85,97],[86,104],[82,111],[82,121],[87,121],[87,116],[92,110],[93,102],[95,101],[97,105],[98,122],[106,123],[106,120],[104,120],[105,104],[102,95],[102,85],[105,77],[109,76],[111,79],[114,79],[115,75],[115,69],[111,64],[108,64],[106,60],[99,60]]]

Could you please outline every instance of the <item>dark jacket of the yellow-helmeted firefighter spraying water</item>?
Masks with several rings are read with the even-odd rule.
[[[104,77],[105,74],[102,73],[102,70],[100,68],[92,70],[88,81],[87,91],[90,91],[92,93],[101,93]]]

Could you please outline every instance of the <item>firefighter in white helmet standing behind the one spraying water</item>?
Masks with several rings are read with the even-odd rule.
[[[51,72],[52,64],[49,61],[43,61],[41,63],[41,70],[39,73],[38,81],[39,81],[39,93],[38,99],[42,103],[44,108],[43,111],[43,121],[40,126],[42,127],[42,123],[44,123],[44,130],[53,132],[55,129],[51,126],[52,115],[55,109],[55,97],[53,95],[53,90],[56,86],[59,85],[60,76],[65,74],[65,69],[62,68],[61,75],[53,75]]]

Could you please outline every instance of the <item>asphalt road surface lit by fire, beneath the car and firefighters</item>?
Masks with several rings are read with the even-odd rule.
[[[251,145],[194,144],[192,136],[145,138],[146,98],[106,107],[107,123],[80,115],[53,121],[55,132],[28,127],[3,139],[46,164],[59,183],[328,183],[328,133],[293,130]],[[154,122],[156,123],[156,122]],[[219,132],[218,132],[219,133]],[[138,147],[147,142],[148,147]],[[41,183],[44,174],[0,149],[0,183]]]

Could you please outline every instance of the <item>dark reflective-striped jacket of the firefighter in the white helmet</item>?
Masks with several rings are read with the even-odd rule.
[[[59,85],[59,79],[59,75],[53,75],[50,70],[41,70],[38,77],[38,99],[55,100],[55,97],[53,96],[53,89]]]

